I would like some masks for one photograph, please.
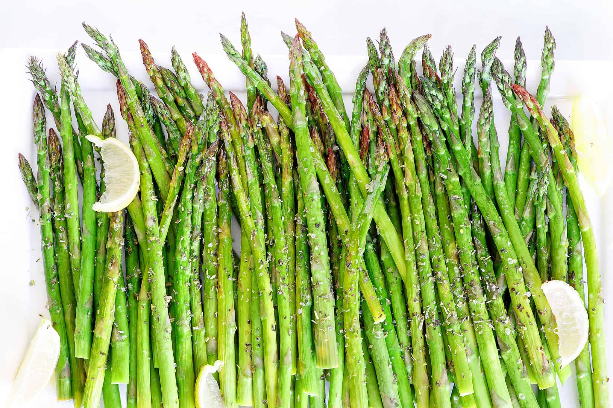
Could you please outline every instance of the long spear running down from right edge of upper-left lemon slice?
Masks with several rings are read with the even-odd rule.
[[[145,153],[140,145],[139,140],[135,135],[130,138],[130,144],[136,158],[139,160],[140,168],[140,197],[142,199],[142,212],[145,218],[145,233],[147,236],[147,253],[148,264],[145,267],[147,277],[143,272],[143,285],[141,286],[140,294],[143,295],[143,289],[150,289],[151,293],[151,321],[153,321],[152,330],[154,344],[158,348],[157,363],[159,367],[159,377],[164,398],[164,404],[170,407],[178,407],[177,395],[177,379],[175,378],[175,359],[172,354],[172,341],[170,339],[170,318],[168,316],[168,305],[166,300],[166,284],[164,280],[164,269],[162,268],[162,245],[159,239],[158,215],[156,211],[156,197],[153,191],[153,177],[149,163],[145,158]],[[150,288],[147,287],[150,285]],[[147,293],[147,292],[145,292]],[[145,299],[147,297],[145,296]],[[139,312],[143,311],[143,319],[145,321],[150,312],[140,308]],[[145,360],[146,361],[146,360]]]

